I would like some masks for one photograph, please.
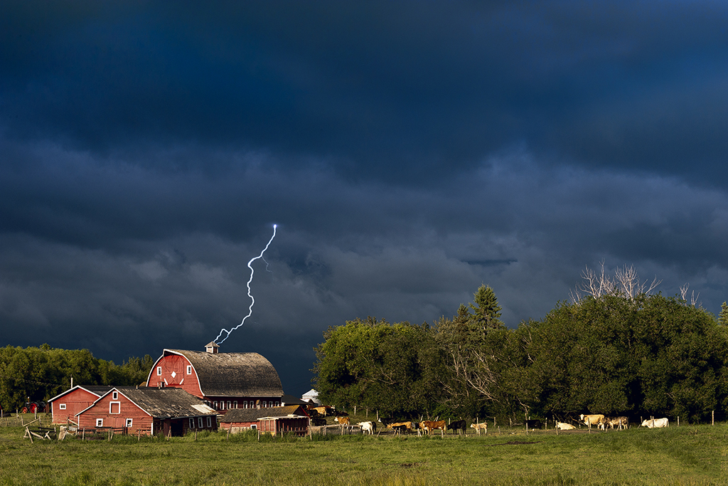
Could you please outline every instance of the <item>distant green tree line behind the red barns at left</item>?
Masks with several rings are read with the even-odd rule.
[[[95,358],[90,350],[66,350],[44,344],[38,348],[0,348],[0,408],[15,410],[28,399],[48,399],[75,385],[140,385],[146,383],[154,360],[131,357],[121,365]]]

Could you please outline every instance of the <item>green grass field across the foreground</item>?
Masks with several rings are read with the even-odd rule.
[[[2,425],[2,424],[0,424]],[[0,426],[0,485],[726,485],[728,426],[487,436],[223,432],[23,439]],[[470,432],[470,431],[469,431]]]

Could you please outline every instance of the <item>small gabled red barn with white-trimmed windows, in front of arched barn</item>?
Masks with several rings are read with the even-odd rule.
[[[111,388],[76,415],[79,428],[183,436],[218,429],[217,413],[179,388]]]

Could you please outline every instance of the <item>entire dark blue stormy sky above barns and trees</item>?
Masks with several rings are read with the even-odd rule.
[[[0,2],[0,345],[515,327],[585,267],[728,299],[728,4]],[[267,271],[266,271],[267,270]]]

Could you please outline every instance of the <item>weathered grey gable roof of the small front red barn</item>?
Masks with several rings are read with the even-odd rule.
[[[119,393],[154,418],[216,415],[205,402],[181,388],[117,388]]]

